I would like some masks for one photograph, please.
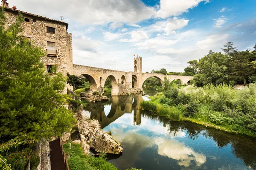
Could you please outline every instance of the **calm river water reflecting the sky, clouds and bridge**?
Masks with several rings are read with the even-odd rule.
[[[143,99],[112,96],[84,109],[122,144],[122,154],[107,157],[118,170],[256,170],[256,139],[152,115],[140,110]]]

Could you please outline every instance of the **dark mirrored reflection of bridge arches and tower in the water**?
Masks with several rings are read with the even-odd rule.
[[[134,123],[141,124],[140,101],[141,95],[134,96],[112,96],[111,110],[109,113],[104,111],[104,103],[91,103],[90,117],[97,119],[101,128],[108,126],[124,113],[132,113],[134,111]],[[105,103],[106,104],[106,103]],[[108,115],[108,116],[106,116]]]

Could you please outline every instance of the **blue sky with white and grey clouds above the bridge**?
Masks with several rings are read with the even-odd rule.
[[[233,42],[256,44],[256,0],[8,0],[9,7],[55,20],[73,34],[73,63],[133,71],[183,72],[187,62]]]

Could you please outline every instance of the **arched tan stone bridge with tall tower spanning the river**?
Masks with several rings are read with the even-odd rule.
[[[109,77],[112,84],[112,94],[117,95],[122,89],[125,88],[141,88],[143,82],[150,77],[156,77],[163,83],[163,74],[155,73],[142,73],[142,58],[134,58],[134,72],[124,72],[108,70],[103,68],[95,68],[84,65],[73,64],[73,73],[76,76],[83,76],[90,82],[91,90],[96,90],[97,88],[104,87],[106,79]],[[188,84],[193,77],[190,76],[173,76],[166,75],[166,77],[173,81],[178,79],[181,84]],[[134,84],[132,81],[134,80]]]

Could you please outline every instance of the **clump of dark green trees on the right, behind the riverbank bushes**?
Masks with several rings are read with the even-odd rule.
[[[233,42],[227,42],[221,48],[225,54],[213,53],[203,58],[189,61],[189,67],[185,68],[185,74],[194,75],[192,83],[198,87],[222,83],[235,85],[256,82],[256,52],[237,51]]]

